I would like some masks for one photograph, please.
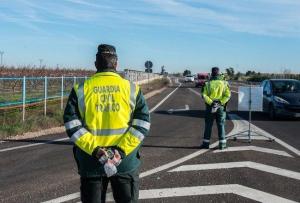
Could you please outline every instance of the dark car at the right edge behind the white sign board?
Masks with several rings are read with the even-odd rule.
[[[270,79],[263,87],[263,110],[271,119],[278,116],[300,117],[300,81],[293,79]]]

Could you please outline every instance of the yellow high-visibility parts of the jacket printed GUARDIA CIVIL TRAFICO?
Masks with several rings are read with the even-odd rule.
[[[71,140],[80,149],[92,155],[98,146],[117,146],[128,155],[141,143],[144,135],[130,127],[130,123],[146,129],[150,128],[150,123],[131,120],[139,92],[137,85],[117,73],[100,72],[76,84],[74,90],[83,127]],[[70,125],[80,121],[73,122]]]

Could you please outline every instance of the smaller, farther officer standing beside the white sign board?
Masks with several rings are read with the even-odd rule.
[[[230,99],[230,95],[228,82],[220,75],[219,68],[213,67],[211,69],[211,78],[205,83],[202,91],[202,96],[206,104],[206,111],[204,139],[201,148],[209,149],[214,117],[216,117],[218,127],[219,149],[226,148],[224,127],[226,119],[225,106]]]

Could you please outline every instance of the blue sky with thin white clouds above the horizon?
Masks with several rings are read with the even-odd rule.
[[[300,1],[0,0],[5,65],[93,70],[101,43],[119,70],[300,73]]]

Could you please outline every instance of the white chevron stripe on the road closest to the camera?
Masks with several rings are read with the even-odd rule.
[[[295,201],[238,184],[140,190],[139,199],[159,199],[214,194],[236,194],[263,203],[295,203]],[[109,196],[107,201],[113,201],[112,196]]]

